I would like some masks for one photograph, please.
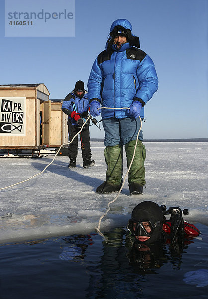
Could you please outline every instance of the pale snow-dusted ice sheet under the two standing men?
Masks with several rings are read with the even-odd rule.
[[[146,142],[145,146],[144,194],[129,196],[126,181],[102,220],[101,231],[126,226],[133,207],[144,200],[165,204],[167,208],[187,208],[186,221],[208,225],[208,143]],[[96,161],[92,168],[82,168],[79,150],[76,168],[68,169],[68,157],[56,157],[43,174],[0,191],[1,243],[95,230],[108,202],[117,193],[95,193],[105,180],[104,143],[91,142],[91,149]],[[40,159],[0,158],[0,188],[41,172],[54,155]],[[124,175],[126,172],[125,162]]]

